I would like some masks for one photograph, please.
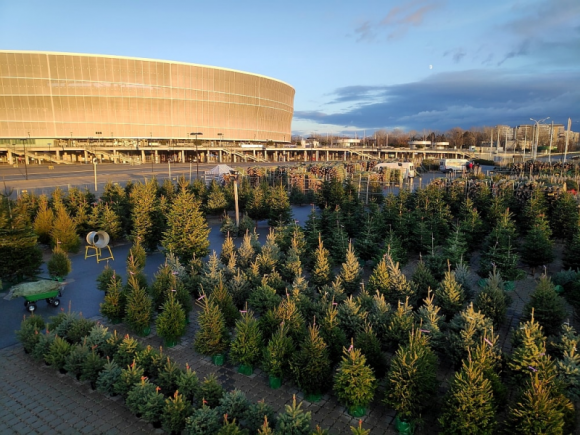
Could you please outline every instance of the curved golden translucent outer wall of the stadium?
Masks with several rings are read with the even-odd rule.
[[[0,138],[289,142],[293,104],[290,85],[225,68],[0,51]]]

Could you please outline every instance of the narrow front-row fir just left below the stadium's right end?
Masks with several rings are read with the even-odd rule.
[[[284,372],[290,369],[293,351],[294,342],[288,336],[288,328],[282,323],[264,349],[263,368],[268,373],[270,388],[277,389],[282,385]]]

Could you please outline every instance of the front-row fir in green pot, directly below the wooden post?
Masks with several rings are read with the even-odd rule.
[[[234,362],[240,364],[238,371],[244,375],[254,372],[254,365],[260,359],[262,351],[262,332],[252,310],[242,311],[242,318],[236,322],[236,333],[230,349]]]

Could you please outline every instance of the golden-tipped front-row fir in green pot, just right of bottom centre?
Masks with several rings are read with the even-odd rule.
[[[334,391],[346,403],[353,417],[362,417],[366,407],[373,400],[376,389],[373,370],[366,364],[366,358],[355,349],[351,340],[350,348],[344,349],[342,362],[334,375]]]

